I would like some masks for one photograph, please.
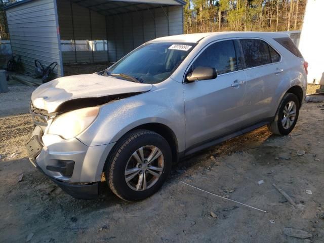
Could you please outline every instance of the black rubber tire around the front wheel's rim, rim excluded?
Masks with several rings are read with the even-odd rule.
[[[125,169],[132,154],[143,146],[157,147],[163,154],[164,167],[152,187],[136,191],[129,187],[125,179]],[[135,130],[123,136],[114,147],[108,160],[105,175],[112,192],[121,199],[137,201],[153,195],[166,181],[171,171],[172,153],[167,140],[159,134],[148,130]]]

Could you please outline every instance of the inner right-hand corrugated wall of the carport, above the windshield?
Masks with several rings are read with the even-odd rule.
[[[183,33],[183,7],[168,6],[107,17],[109,61],[151,39]],[[168,18],[169,17],[169,24]]]

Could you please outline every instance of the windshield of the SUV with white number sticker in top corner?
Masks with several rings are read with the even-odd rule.
[[[157,84],[168,78],[191,52],[194,43],[149,43],[128,54],[104,75],[144,84]]]

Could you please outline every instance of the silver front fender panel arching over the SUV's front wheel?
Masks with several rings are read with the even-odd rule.
[[[159,123],[174,132],[179,151],[184,150],[182,84],[172,81],[170,86],[102,105],[96,121],[77,138],[88,146],[109,144],[138,126]]]

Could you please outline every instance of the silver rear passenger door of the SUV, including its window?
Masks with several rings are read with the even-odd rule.
[[[278,51],[263,39],[240,38],[239,42],[247,77],[246,119],[242,125],[250,126],[274,115],[275,93],[287,70]]]

